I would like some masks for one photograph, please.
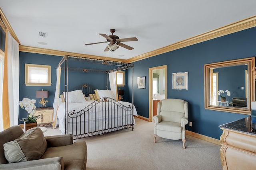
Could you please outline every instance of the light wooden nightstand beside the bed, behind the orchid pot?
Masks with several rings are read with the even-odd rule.
[[[36,121],[38,127],[51,126],[53,117],[53,107],[36,108],[35,115],[41,115]]]

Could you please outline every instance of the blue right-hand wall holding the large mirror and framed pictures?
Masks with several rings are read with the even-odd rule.
[[[138,76],[146,76],[146,89],[133,88],[138,114],[149,117],[148,68],[167,64],[167,98],[188,101],[188,120],[193,122],[193,127],[186,125],[186,129],[219,139],[222,134],[219,125],[248,115],[204,109],[204,64],[253,57],[256,55],[255,39],[256,27],[253,27],[134,62],[134,82]],[[172,90],[172,73],[186,71],[188,90]],[[131,81],[131,72],[128,75],[128,81]],[[130,86],[129,91],[132,91]]]

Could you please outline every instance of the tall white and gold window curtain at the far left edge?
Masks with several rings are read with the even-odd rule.
[[[19,77],[19,44],[7,30],[4,53],[4,78],[2,92],[2,118],[4,129],[7,129],[13,125],[18,125]]]

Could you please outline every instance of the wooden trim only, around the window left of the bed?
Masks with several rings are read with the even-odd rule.
[[[30,83],[28,82],[28,67],[40,67],[48,68],[48,83]],[[40,64],[26,64],[25,63],[25,84],[26,86],[51,86],[51,66],[50,65],[40,65]]]

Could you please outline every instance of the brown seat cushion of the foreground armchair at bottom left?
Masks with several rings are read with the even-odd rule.
[[[73,145],[47,148],[40,159],[58,156],[63,157],[65,170],[84,170],[87,160],[86,142],[78,141]]]

